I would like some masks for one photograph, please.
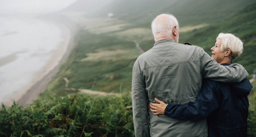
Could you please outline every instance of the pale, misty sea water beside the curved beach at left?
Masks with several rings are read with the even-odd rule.
[[[0,17],[0,103],[18,100],[57,65],[70,39],[65,29],[40,19]]]

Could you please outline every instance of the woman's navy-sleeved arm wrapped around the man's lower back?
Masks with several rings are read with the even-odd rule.
[[[213,83],[216,85],[214,87],[218,87],[216,83]],[[195,102],[183,105],[168,104],[165,108],[165,115],[178,120],[203,120],[219,107],[217,96],[214,94],[215,90],[203,81],[202,89]]]

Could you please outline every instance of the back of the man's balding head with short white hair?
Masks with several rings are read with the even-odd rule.
[[[166,16],[164,20],[159,22],[158,17]],[[172,29],[174,26],[179,26],[178,20],[172,14],[161,14],[158,15],[151,23],[152,33],[154,38],[171,36]]]

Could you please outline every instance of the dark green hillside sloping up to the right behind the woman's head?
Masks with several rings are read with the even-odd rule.
[[[242,64],[252,77],[256,68],[256,3],[246,7],[241,12],[222,22],[211,25],[204,29],[194,30],[191,33],[180,34],[181,42],[191,42],[193,45],[203,47],[209,54],[210,48],[214,46],[215,39],[219,33],[232,33],[244,42],[243,54],[233,63]]]

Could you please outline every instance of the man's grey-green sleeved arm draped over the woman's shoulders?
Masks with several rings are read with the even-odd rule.
[[[240,64],[223,66],[211,58],[202,48],[199,47],[201,72],[203,78],[209,78],[219,82],[240,82],[248,77],[245,68]]]

